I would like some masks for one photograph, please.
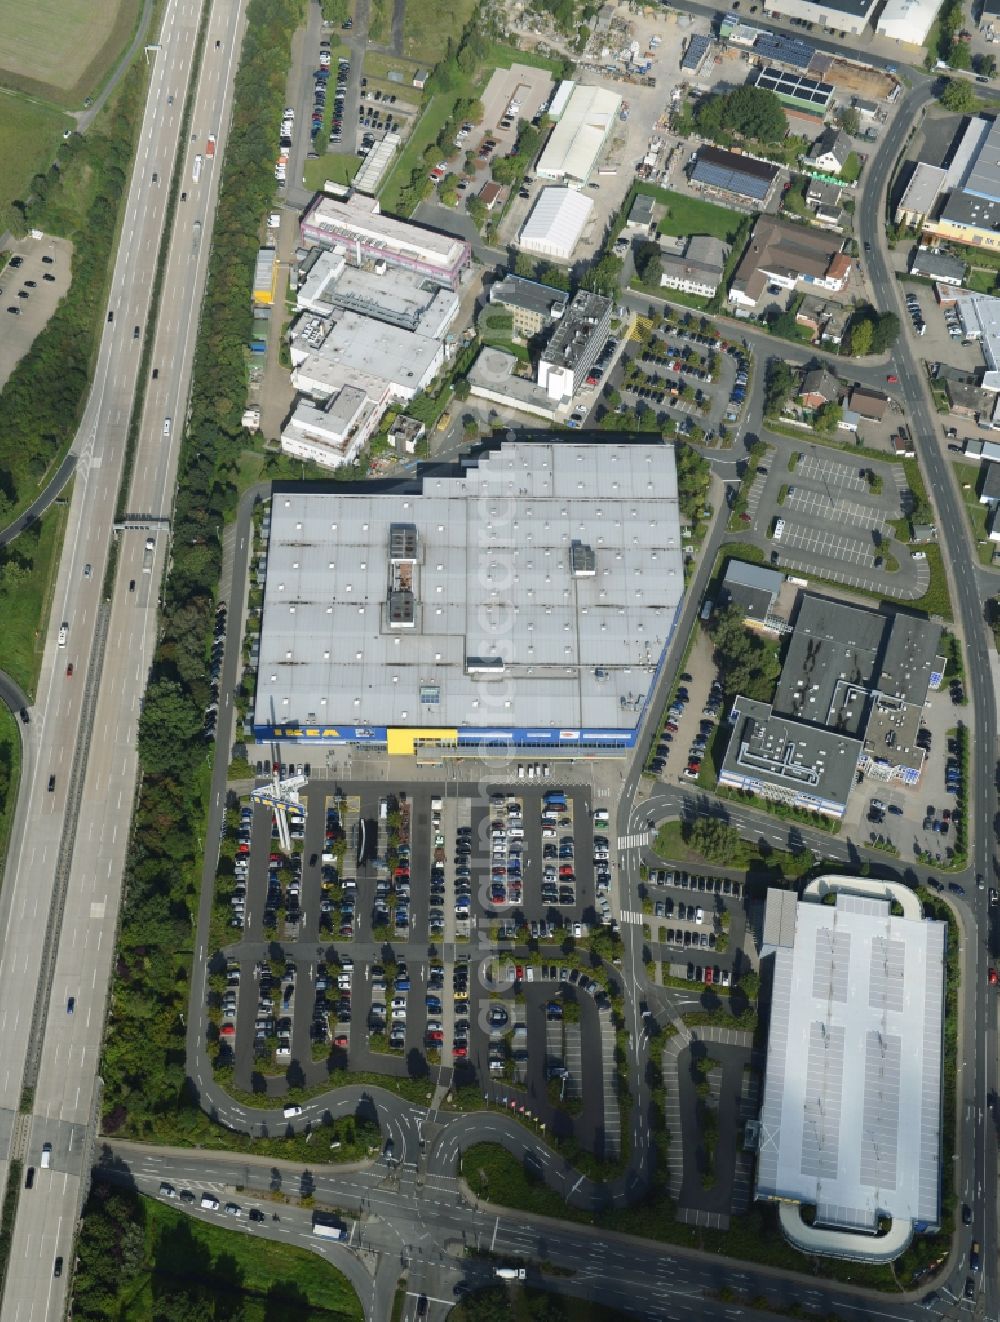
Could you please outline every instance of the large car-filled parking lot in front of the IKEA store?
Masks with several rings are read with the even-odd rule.
[[[222,956],[209,1001],[217,1063],[238,1087],[276,1095],[286,1080],[313,1085],[332,1069],[430,1081],[443,1067],[446,1081],[452,1069],[459,1083],[492,1075],[538,1105],[581,1097],[583,1060],[603,1068],[599,1018],[585,1001],[565,1031],[553,1026],[560,998],[590,980],[544,961],[546,948],[561,958],[565,943],[612,921],[607,810],[595,814],[583,787],[553,787],[542,765],[540,783],[525,775],[524,788],[485,800],[472,787],[339,785],[302,769],[308,783],[303,810],[288,814],[287,849],[266,804],[243,798],[228,814],[213,923]],[[481,947],[515,941],[538,954],[504,958],[485,976]],[[520,1002],[534,997],[525,988],[536,980],[560,986],[524,1018]],[[594,984],[598,1010],[601,993]],[[497,999],[511,1002],[503,1026],[489,1022]],[[552,1072],[557,1056],[565,1073]],[[562,1097],[549,1096],[553,1079]],[[577,1109],[595,1136],[604,1091],[597,1079],[593,1089],[595,1100]]]

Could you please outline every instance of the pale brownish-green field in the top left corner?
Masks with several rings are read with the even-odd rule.
[[[0,83],[63,106],[94,93],[131,37],[142,0],[0,0]]]

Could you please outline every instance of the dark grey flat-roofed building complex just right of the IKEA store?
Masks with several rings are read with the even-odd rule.
[[[772,703],[738,697],[720,784],[840,818],[858,771],[917,784],[940,628],[803,592]]]

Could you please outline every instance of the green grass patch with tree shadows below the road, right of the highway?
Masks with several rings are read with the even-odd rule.
[[[348,1278],[315,1253],[237,1235],[153,1199],[143,1203],[147,1272],[124,1317],[156,1315],[153,1301],[169,1292],[169,1281],[175,1278],[185,1289],[202,1285],[220,1301],[224,1296],[230,1302],[239,1296],[266,1301],[267,1317],[291,1317],[291,1306],[300,1317],[361,1322],[361,1301]]]

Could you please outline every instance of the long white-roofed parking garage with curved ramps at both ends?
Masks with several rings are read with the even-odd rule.
[[[829,883],[835,904],[767,892],[757,1196],[815,1208],[815,1227],[853,1232],[828,1252],[864,1257],[881,1218],[899,1251],[899,1227],[939,1223],[947,924],[915,899],[896,916],[872,883]]]

